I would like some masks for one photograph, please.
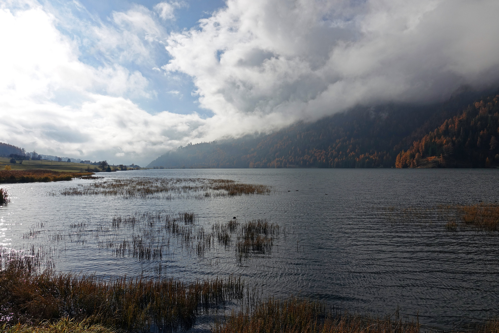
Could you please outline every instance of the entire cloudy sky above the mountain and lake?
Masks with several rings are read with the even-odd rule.
[[[499,82],[497,0],[0,0],[0,141],[148,164]]]

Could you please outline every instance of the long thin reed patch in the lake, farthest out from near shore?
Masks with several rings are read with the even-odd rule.
[[[238,183],[229,179],[134,177],[96,181],[61,190],[64,196],[106,195],[124,198],[206,199],[237,195],[270,194],[266,185]]]

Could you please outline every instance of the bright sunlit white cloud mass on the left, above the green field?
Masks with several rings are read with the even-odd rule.
[[[61,22],[37,2],[16,10],[0,7],[0,45],[8,50],[0,52],[1,141],[48,154],[115,156],[114,162],[143,164],[192,138],[204,122],[196,113],[151,114],[131,100],[150,98],[154,91],[139,70],[119,60],[133,54],[152,61],[147,49],[141,51],[146,44],[132,36],[132,31],[144,38],[160,35],[151,16],[135,8],[114,13],[113,22],[117,28],[96,24],[89,32],[107,34],[97,40],[108,41],[99,47],[109,54],[91,66],[80,60],[78,40],[61,33]],[[112,55],[119,47],[130,53]]]

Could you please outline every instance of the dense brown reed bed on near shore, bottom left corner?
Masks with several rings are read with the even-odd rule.
[[[243,299],[241,278],[183,282],[177,279],[40,273],[29,260],[11,260],[0,272],[0,325],[62,318],[130,332],[188,329],[196,316],[229,300]]]

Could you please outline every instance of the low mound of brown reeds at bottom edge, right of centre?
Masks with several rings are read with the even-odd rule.
[[[245,312],[232,312],[216,333],[419,333],[416,321],[403,322],[396,312],[385,318],[350,315],[325,303],[290,297],[259,302]]]

